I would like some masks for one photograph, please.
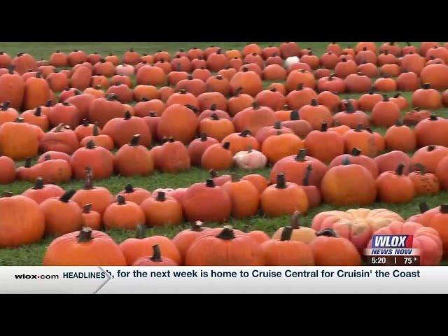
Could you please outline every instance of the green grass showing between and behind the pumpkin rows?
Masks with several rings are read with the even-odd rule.
[[[279,43],[259,43],[260,45],[279,45]],[[346,45],[354,46],[356,43],[353,42],[339,42],[343,47]],[[401,43],[403,44],[403,43]],[[415,45],[419,45],[419,43],[413,43]],[[120,57],[123,53],[128,50],[130,47],[133,47],[140,53],[154,53],[158,50],[167,50],[169,52],[176,52],[180,48],[188,50],[193,47],[197,48],[207,48],[210,45],[218,45],[224,50],[237,48],[241,50],[244,48],[246,43],[238,42],[238,43],[229,43],[229,42],[201,42],[201,43],[193,43],[193,42],[167,42],[167,43],[1,43],[0,42],[0,50],[3,52],[7,52],[9,55],[15,55],[18,52],[28,52],[33,55],[36,59],[48,59],[50,54],[55,50],[62,50],[64,52],[70,52],[73,49],[84,50],[87,53],[90,52],[99,52],[102,55],[107,55],[109,52],[113,52],[114,54],[119,55]],[[312,48],[314,54],[321,55],[325,52],[326,45],[328,42],[304,42],[300,43],[301,48]],[[381,43],[378,43],[381,45]],[[269,85],[268,82],[265,85]],[[355,97],[358,98],[361,94],[341,94],[341,97]],[[390,94],[392,95],[392,94]],[[402,94],[407,99],[410,99],[411,92],[404,92]],[[440,109],[437,111],[440,116],[448,117],[448,109]],[[375,129],[378,132],[384,133],[384,129]],[[22,165],[22,162],[17,162],[18,166]],[[228,172],[219,172],[220,174],[230,173],[235,174],[237,176],[241,176],[244,174],[249,174],[246,171],[242,171],[239,169],[231,169]],[[264,176],[269,176],[269,168],[261,169],[256,171],[255,173],[262,174]],[[190,186],[191,184],[199,181],[204,181],[207,179],[209,174],[198,168],[192,168],[189,172],[184,172],[182,174],[162,174],[155,173],[148,177],[132,177],[132,178],[123,178],[120,176],[113,176],[110,179],[105,179],[102,181],[97,181],[95,185],[104,186],[111,190],[111,193],[118,193],[120,190],[123,190],[124,186],[127,183],[132,183],[135,187],[146,188],[148,190],[155,190],[156,188],[179,188]],[[62,188],[82,188],[82,181],[71,181],[70,183],[62,184]],[[0,193],[3,191],[12,191],[15,194],[20,194],[25,191],[27,188],[31,187],[31,183],[27,182],[15,182],[11,183],[7,186],[0,186]],[[435,207],[441,203],[448,202],[448,193],[440,193],[439,195],[433,197],[416,197],[412,202],[408,204],[402,205],[391,205],[384,203],[375,203],[372,204],[369,208],[380,208],[384,207],[386,209],[390,209],[392,211],[397,212],[403,218],[407,218],[419,212],[418,204],[420,202],[427,202],[430,207]],[[302,225],[309,225],[311,223],[312,218],[321,211],[328,211],[332,209],[351,209],[356,208],[352,207],[333,207],[328,204],[324,204],[317,209],[312,209],[312,211],[304,216],[302,219]],[[1,214],[0,214],[1,216]],[[284,216],[280,218],[266,218],[260,214],[259,216],[255,216],[253,218],[247,218],[240,221],[231,220],[230,224],[235,228],[245,228],[248,226],[250,230],[264,230],[268,234],[272,234],[276,228],[280,226],[286,225],[289,223],[289,218]],[[216,226],[214,223],[210,223],[209,226]],[[188,228],[188,224],[185,223],[176,228],[155,228],[148,229],[148,235],[166,235],[167,237],[174,237],[177,232]],[[113,239],[115,239],[118,243],[127,239],[128,237],[134,236],[134,231],[124,231],[124,230],[111,230],[107,232]],[[43,258],[43,254],[45,253],[45,248],[52,241],[51,237],[43,239],[38,244],[31,244],[28,246],[22,246],[20,248],[3,248],[0,249],[0,265],[41,265],[41,260]],[[444,261],[444,265],[448,265],[448,261]]]

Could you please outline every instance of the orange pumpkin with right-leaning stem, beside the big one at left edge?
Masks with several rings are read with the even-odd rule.
[[[46,235],[65,235],[83,227],[81,208],[71,200],[75,193],[75,190],[68,190],[59,198],[48,198],[39,204],[39,209],[45,216]]]

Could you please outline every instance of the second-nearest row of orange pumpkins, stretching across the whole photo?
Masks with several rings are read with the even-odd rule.
[[[434,154],[448,151],[447,148],[422,149],[428,162],[437,160]],[[386,155],[400,154],[402,152]],[[360,155],[360,151],[341,155],[338,160],[339,163],[328,168],[307,156],[306,150],[302,149],[297,155],[274,165],[270,185],[260,174],[248,174],[234,181],[232,176],[219,176],[211,169],[210,179],[188,188],[160,188],[151,193],[127,185],[116,197],[107,188],[94,186],[92,169],[88,167],[85,169],[85,186],[78,191],[64,191],[55,184],[45,184],[39,177],[34,187],[22,195],[5,193],[0,198],[0,210],[6,214],[0,220],[0,246],[31,244],[44,234],[64,235],[84,225],[95,230],[101,230],[103,226],[132,230],[139,223],[179,225],[184,219],[225,222],[230,217],[255,216],[259,210],[271,217],[290,215],[295,211],[306,214],[312,207],[318,207],[322,200],[336,205],[372,204],[377,199],[405,203],[414,195],[430,195],[440,189],[437,176],[425,172],[423,166],[419,172],[406,175],[406,167],[400,163],[395,172],[382,172],[375,179],[372,171],[377,172],[377,161]],[[445,155],[438,166],[446,165],[447,160]],[[316,174],[311,175],[311,172]],[[446,188],[446,184],[443,186]],[[447,232],[440,235],[442,240],[447,239]],[[363,244],[366,242],[364,239]]]

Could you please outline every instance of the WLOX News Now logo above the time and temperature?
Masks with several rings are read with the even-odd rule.
[[[366,255],[419,255],[412,248],[412,235],[373,235],[372,248],[365,248]]]

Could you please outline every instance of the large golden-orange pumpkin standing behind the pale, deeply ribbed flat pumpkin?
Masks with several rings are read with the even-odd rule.
[[[321,183],[323,200],[329,204],[372,204],[377,188],[372,174],[361,165],[352,164],[349,158],[341,166],[328,169]]]

